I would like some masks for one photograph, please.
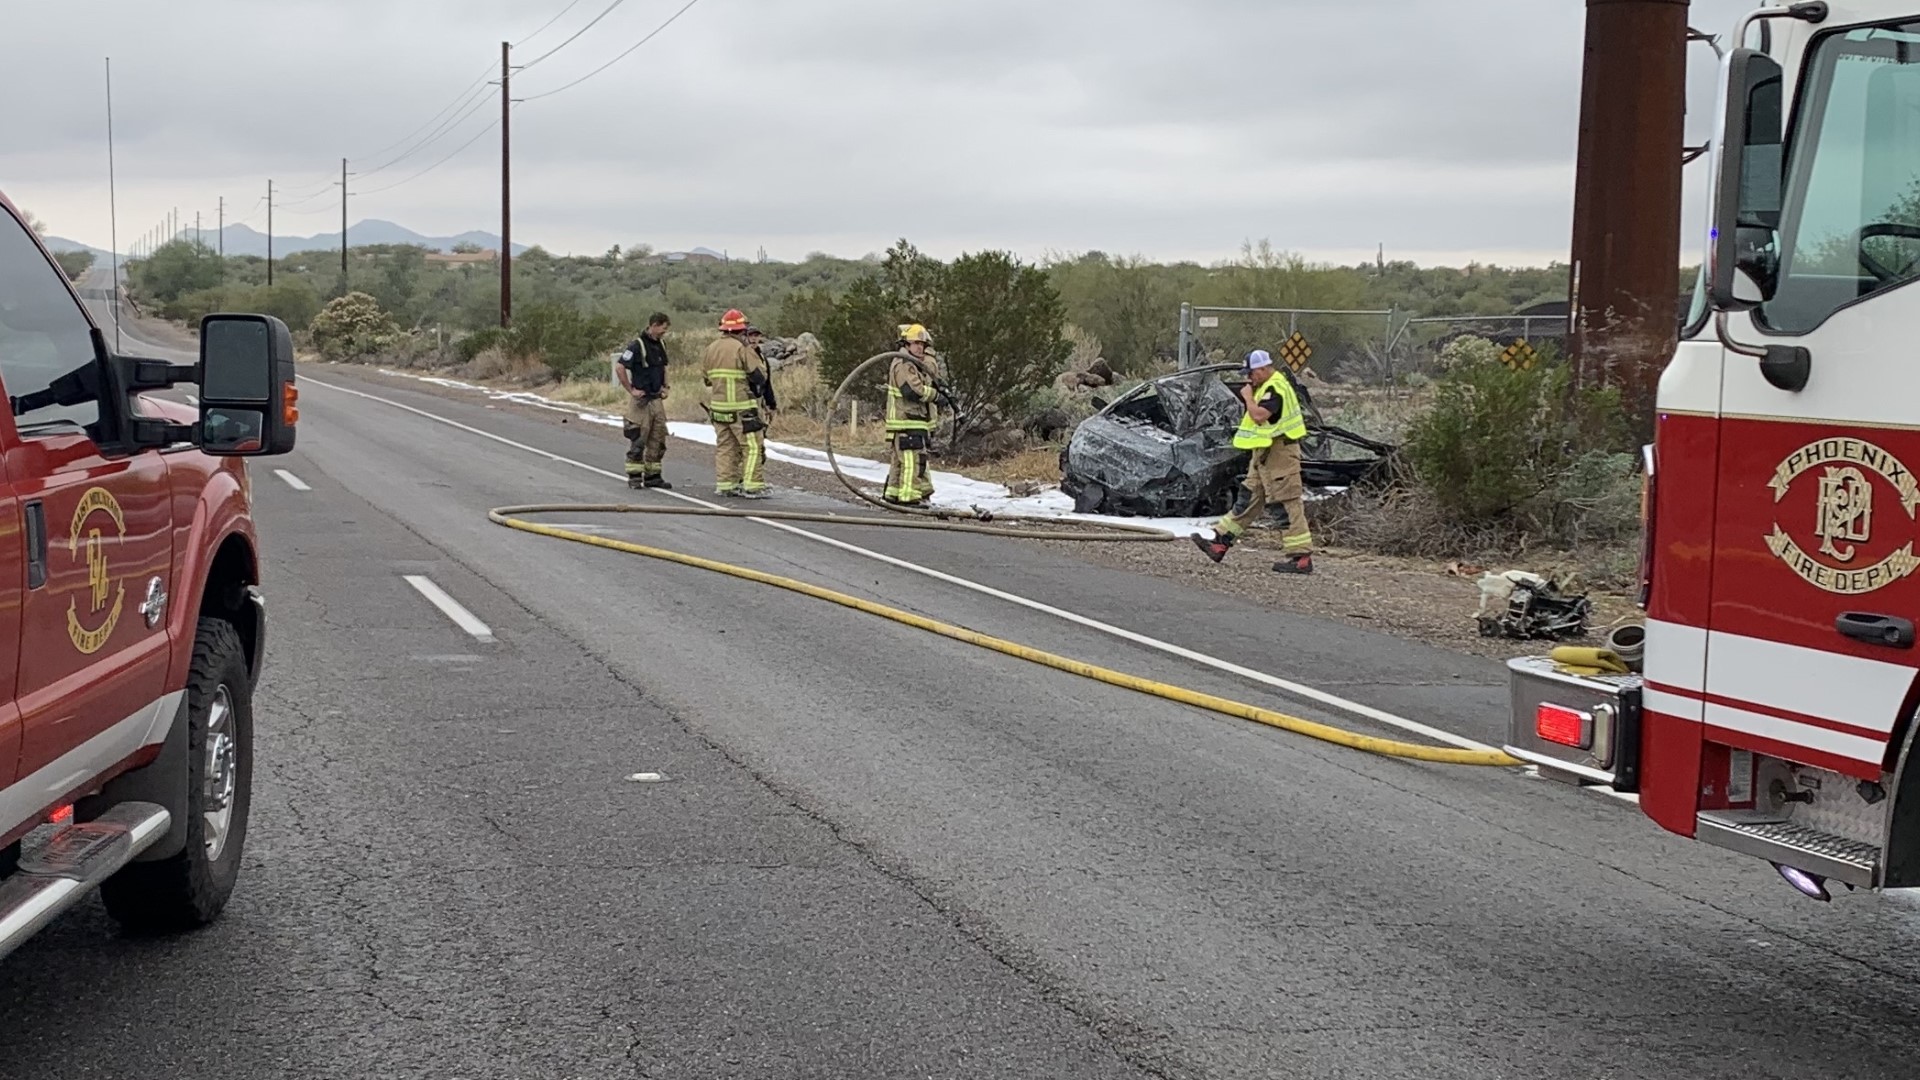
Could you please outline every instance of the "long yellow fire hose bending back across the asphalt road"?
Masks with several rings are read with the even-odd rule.
[[[678,513],[695,517],[755,517],[755,519],[774,519],[774,521],[816,521],[829,525],[874,525],[891,528],[918,527],[918,528],[945,528],[945,530],[975,530],[975,532],[993,532],[1000,536],[1010,534],[1008,530],[968,528],[945,521],[922,523],[922,521],[900,521],[883,517],[879,519],[847,517],[833,513],[791,513],[791,511],[755,513],[749,509],[708,509],[708,507],[674,507],[674,505],[641,505],[641,503],[543,503],[543,505],[505,505],[488,511],[490,521],[493,521],[495,525],[505,525],[507,528],[518,528],[522,532],[534,532],[538,536],[553,536],[559,540],[572,540],[576,544],[591,544],[595,548],[609,548],[612,552],[626,552],[632,555],[647,555],[649,559],[662,559],[668,563],[680,563],[684,567],[699,567],[703,571],[714,571],[743,580],[785,588],[789,592],[799,592],[803,596],[812,596],[816,600],[839,603],[841,607],[852,607],[854,611],[866,611],[868,615],[879,615],[881,619],[893,619],[895,623],[918,626],[922,630],[927,630],[929,634],[939,634],[943,638],[952,638],[956,642],[966,642],[970,646],[979,646],[983,650],[993,650],[1002,655],[1020,657],[1023,661],[1050,667],[1054,671],[1079,675],[1081,678],[1106,682],[1108,686],[1119,686],[1125,690],[1150,694],[1154,698],[1179,701],[1181,705],[1192,705],[1196,709],[1208,709],[1213,713],[1221,713],[1225,717],[1254,721],[1256,724],[1267,724],[1271,728],[1290,730],[1296,734],[1304,734],[1336,746],[1346,746],[1352,749],[1365,749],[1367,753],[1379,753],[1384,757],[1407,757],[1413,761],[1436,761],[1442,765],[1496,765],[1496,767],[1524,765],[1523,761],[1509,757],[1507,753],[1501,753],[1498,749],[1450,749],[1438,746],[1421,746],[1413,742],[1394,742],[1386,738],[1356,734],[1336,726],[1313,723],[1302,717],[1277,713],[1273,709],[1261,709],[1260,705],[1248,705],[1244,701],[1233,701],[1229,698],[1202,694],[1198,690],[1188,690],[1185,686],[1156,682],[1152,678],[1142,678],[1139,675],[1127,675],[1123,671],[1114,671],[1085,661],[1069,659],[1064,655],[1048,653],[1031,646],[1021,646],[1020,642],[1008,642],[1004,638],[979,634],[964,626],[941,623],[939,619],[927,619],[924,615],[914,615],[912,611],[900,611],[899,607],[889,607],[885,603],[876,603],[872,600],[862,600],[858,596],[849,596],[845,592],[835,592],[831,588],[822,588],[818,584],[808,584],[797,578],[770,575],[749,567],[737,567],[733,563],[722,563],[716,559],[703,559],[699,555],[687,555],[682,552],[668,552],[664,548],[649,548],[645,544],[630,544],[626,540],[609,540],[605,536],[591,536],[586,532],[576,532],[572,528],[561,528],[557,525],[541,525],[538,521],[526,521],[524,517],[520,517],[528,513]],[[1094,536],[1066,534],[1058,538],[1091,540]],[[1121,536],[1112,536],[1112,538],[1117,540]]]

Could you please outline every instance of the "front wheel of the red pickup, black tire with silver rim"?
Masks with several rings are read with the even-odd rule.
[[[165,934],[213,922],[240,878],[253,780],[253,680],[232,623],[202,619],[186,678],[186,847],[100,886],[121,926]]]

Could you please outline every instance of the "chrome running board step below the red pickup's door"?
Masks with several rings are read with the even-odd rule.
[[[0,882],[0,959],[86,899],[171,824],[165,807],[121,803],[84,824],[27,834],[19,869]]]

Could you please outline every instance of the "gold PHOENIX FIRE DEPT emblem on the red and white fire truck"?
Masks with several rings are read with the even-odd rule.
[[[1768,486],[1774,503],[1788,498],[1795,480],[1818,469],[1814,492],[1812,536],[1818,540],[1809,553],[1799,540],[1780,527],[1766,536],[1766,548],[1807,584],[1841,596],[1860,596],[1882,590],[1920,569],[1914,540],[1889,552],[1876,563],[1855,565],[1860,548],[1874,538],[1874,480],[1880,477],[1899,496],[1907,521],[1916,523],[1920,509],[1920,480],[1899,457],[1859,438],[1822,438],[1789,454],[1774,469]]]

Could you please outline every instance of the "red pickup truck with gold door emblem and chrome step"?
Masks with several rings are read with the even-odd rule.
[[[129,930],[205,924],[267,640],[242,457],[294,448],[292,334],[209,315],[198,363],[115,356],[0,196],[0,957],[96,888]]]

